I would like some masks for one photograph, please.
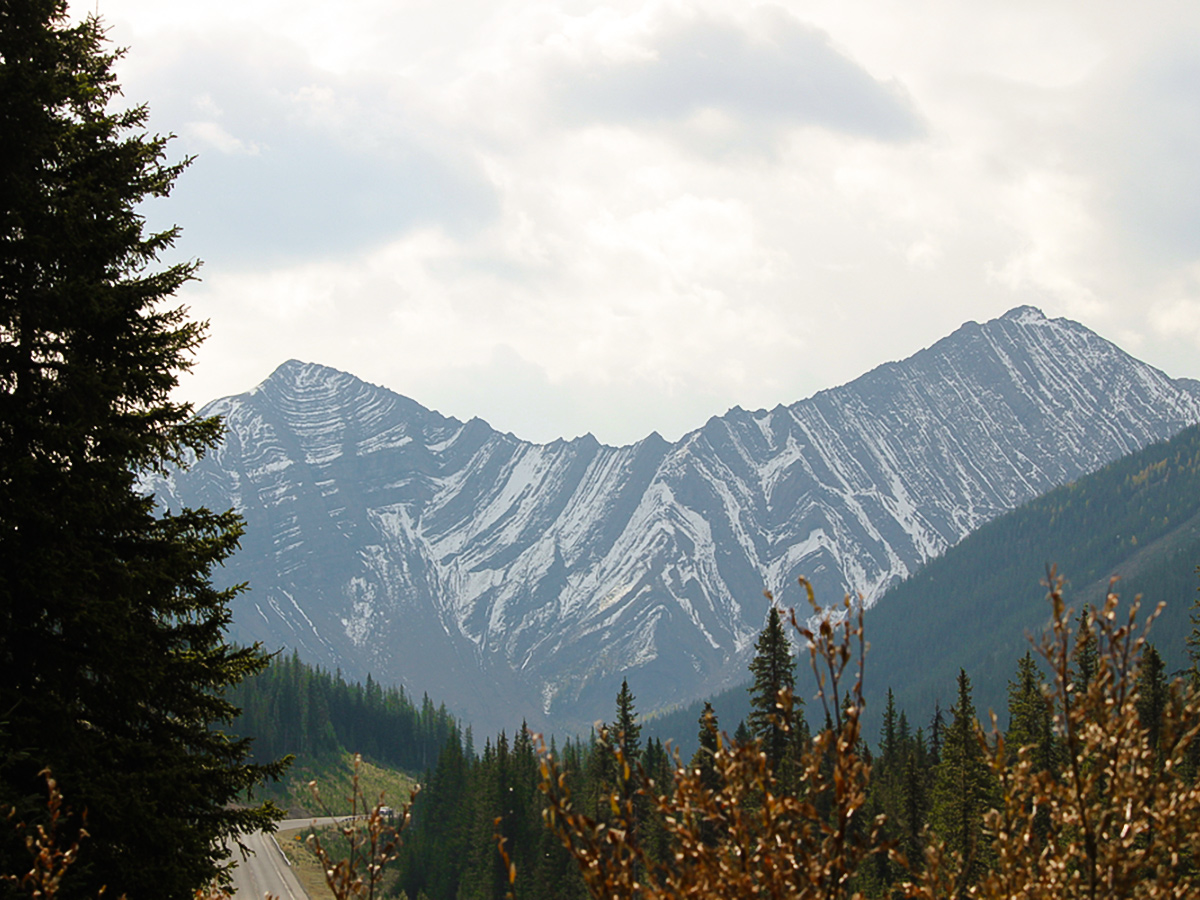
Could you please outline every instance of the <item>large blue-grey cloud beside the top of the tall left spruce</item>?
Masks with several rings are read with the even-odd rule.
[[[211,44],[154,74],[144,94],[127,90],[150,101],[155,127],[179,134],[173,155],[197,156],[169,216],[184,227],[185,250],[210,263],[336,254],[422,226],[462,233],[496,215],[482,174],[426,125],[406,121],[386,85]],[[326,115],[312,115],[305,90]],[[240,146],[222,150],[205,128]]]

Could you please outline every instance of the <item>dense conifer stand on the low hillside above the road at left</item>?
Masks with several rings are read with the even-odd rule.
[[[366,684],[347,682],[280,654],[253,678],[228,691],[241,708],[230,731],[253,738],[256,760],[294,754],[331,758],[342,750],[406,772],[432,767],[458,727],[444,704],[428,695],[415,703],[403,688],[384,688],[370,674]],[[452,740],[451,740],[452,738]]]

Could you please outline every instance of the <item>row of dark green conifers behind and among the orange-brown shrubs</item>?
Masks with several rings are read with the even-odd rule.
[[[1069,694],[1085,700],[1092,696],[1103,715],[1112,706],[1102,694],[1112,689],[1114,674],[1111,660],[1105,664],[1110,668],[1105,668],[1102,665],[1105,660],[1097,655],[1100,637],[1105,635],[1100,618],[1085,613],[1075,620],[1072,638],[1075,646],[1067,678]],[[859,841],[874,847],[856,864],[847,882],[863,895],[895,895],[914,872],[922,871],[929,852],[937,859],[961,860],[961,868],[955,870],[959,887],[937,895],[955,895],[971,884],[995,880],[996,872],[1009,862],[997,856],[989,830],[995,828],[994,822],[989,826],[989,817],[1013,803],[1013,788],[1006,788],[1003,772],[1019,767],[1021,778],[1049,779],[1046,784],[1061,786],[1069,776],[1068,760],[1072,754],[1079,755],[1079,748],[1070,743],[1076,738],[1063,732],[1061,709],[1056,724],[1052,691],[1044,671],[1052,659],[1027,652],[1015,660],[1008,682],[1007,710],[1000,716],[1000,730],[994,736],[985,736],[980,727],[971,679],[960,670],[953,685],[955,702],[948,710],[935,706],[914,727],[889,691],[874,750],[857,731],[847,749],[838,743],[836,736],[847,733],[847,722],[856,722],[857,728],[853,692],[846,691],[842,709],[827,707],[823,728],[816,734],[810,732],[804,707],[791,697],[796,656],[781,625],[773,610],[756,644],[750,721],[739,722],[739,737],[730,738],[712,707],[706,706],[697,721],[700,749],[683,769],[677,770],[661,742],[640,740],[641,726],[634,715],[634,696],[628,684],[618,694],[612,726],[586,740],[548,748],[554,776],[560,779],[554,784],[560,784],[562,796],[569,797],[568,808],[580,816],[570,828],[594,829],[599,835],[604,835],[606,826],[616,828],[624,835],[622,841],[636,847],[626,858],[616,851],[605,857],[611,850],[608,844],[613,842],[610,838],[608,844],[598,842],[602,850],[596,851],[593,862],[601,868],[611,865],[632,872],[635,880],[638,871],[644,874],[649,868],[670,872],[671,860],[679,851],[679,829],[667,828],[665,811],[655,809],[652,800],[655,786],[670,794],[673,782],[685,775],[691,788],[707,785],[714,793],[722,786],[727,790],[722,779],[738,770],[730,767],[730,754],[737,754],[742,744],[754,748],[770,772],[768,781],[760,780],[755,782],[757,786],[751,785],[739,794],[743,810],[754,814],[764,803],[778,804],[780,796],[793,797],[799,804],[797,809],[808,809],[817,821],[828,822],[830,829],[840,800],[828,786],[842,778],[834,773],[838,754],[860,756],[865,762],[859,769],[864,773],[862,814],[857,824],[846,826],[846,834],[851,844]],[[1111,643],[1111,635],[1109,640]],[[1136,666],[1122,690],[1136,698],[1132,727],[1148,742],[1154,758],[1164,760],[1180,740],[1177,686],[1170,686],[1153,644],[1145,643],[1138,649]],[[1130,722],[1123,726],[1126,732]],[[814,748],[818,756],[826,754],[828,758],[814,762]],[[574,900],[594,893],[596,884],[584,883],[581,876],[581,871],[588,871],[581,862],[587,859],[586,852],[576,848],[578,858],[572,860],[560,840],[562,826],[558,836],[545,827],[547,786],[542,784],[539,792],[535,750],[524,728],[511,742],[503,733],[494,742],[488,740],[478,758],[456,739],[446,744],[413,810],[398,890],[412,900],[500,900],[509,892],[516,898]],[[1196,756],[1196,751],[1189,751],[1190,769],[1184,773],[1189,782],[1195,778]],[[754,755],[744,758],[752,760]],[[997,758],[1007,760],[1008,768],[997,770]],[[721,766],[725,768],[719,770]],[[826,787],[815,787],[822,780]],[[678,790],[678,784],[674,788]],[[552,784],[550,793],[557,791]],[[768,799],[764,791],[775,794],[774,799]],[[1049,808],[1033,809],[1026,803],[1025,809],[1030,815],[1028,841],[1063,841],[1061,823],[1052,821]],[[722,839],[720,828],[731,826],[725,820],[714,824],[716,820],[713,814],[707,820],[698,816],[695,830],[684,832],[684,836],[696,846],[718,842]],[[877,833],[871,833],[871,823],[876,821],[881,824]],[[1074,840],[1078,828],[1067,834]],[[516,881],[511,884],[498,838],[504,839],[509,862],[515,865]],[[1144,844],[1145,840],[1144,836]],[[1187,865],[1181,872],[1184,870],[1190,871]]]

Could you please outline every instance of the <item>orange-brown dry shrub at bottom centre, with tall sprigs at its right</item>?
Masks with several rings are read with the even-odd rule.
[[[810,602],[812,590],[808,582]],[[671,836],[673,858],[654,863],[635,838],[635,802],[608,798],[611,818],[580,812],[556,761],[541,755],[547,824],[577,862],[595,898],[835,898],[852,896],[856,871],[868,856],[888,852],[881,822],[859,821],[870,769],[862,756],[862,608],[845,601],[840,622],[820,616],[815,630],[792,625],[806,640],[829,726],[796,761],[799,792],[767,764],[757,744],[721,739],[713,757],[719,786],[706,786],[698,768],[678,764],[674,784],[661,791],[638,776],[617,750],[618,779],[637,779]],[[816,605],[814,604],[816,610]],[[857,659],[857,666],[852,662]],[[853,683],[847,685],[853,673]],[[779,696],[780,721],[792,703]],[[619,742],[618,742],[619,743]],[[712,781],[709,781],[712,785]],[[624,792],[628,797],[631,792]]]

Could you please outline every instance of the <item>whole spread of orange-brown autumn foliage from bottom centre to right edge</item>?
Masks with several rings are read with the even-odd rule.
[[[1052,624],[1037,649],[1050,672],[1044,692],[1067,762],[1060,772],[1038,772],[1027,749],[1008,750],[995,720],[991,736],[980,730],[1002,799],[985,816],[994,863],[978,883],[967,882],[970,860],[949,853],[936,834],[925,833],[924,859],[906,860],[881,840],[881,821],[863,821],[870,779],[859,727],[863,617],[848,599],[839,617],[820,616],[815,630],[792,616],[828,722],[802,752],[798,790],[785,790],[755,744],[719,744],[715,787],[706,787],[700,769],[678,764],[674,784],[655,785],[618,754],[620,774],[637,782],[671,834],[673,858],[655,863],[638,846],[632,800],[614,791],[607,821],[583,815],[556,761],[542,752],[547,824],[598,900],[859,898],[857,875],[877,853],[908,871],[896,895],[923,900],[1200,896],[1195,688],[1170,685],[1156,746],[1136,707],[1148,625],[1139,624],[1138,604],[1121,619],[1110,589],[1104,607],[1090,614],[1096,670],[1080,686],[1076,658],[1086,632],[1073,632],[1052,572],[1049,601]],[[786,708],[791,697],[781,694],[779,703]]]

